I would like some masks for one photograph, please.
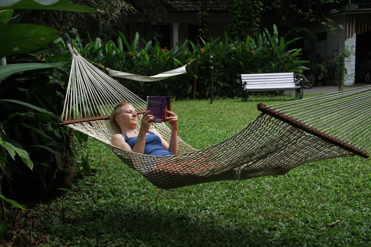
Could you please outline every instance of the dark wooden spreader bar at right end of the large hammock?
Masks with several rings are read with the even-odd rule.
[[[347,151],[352,152],[353,154],[357,154],[363,158],[370,157],[370,154],[368,152],[365,152],[360,148],[353,147],[352,145],[346,142],[336,140],[336,137],[326,134],[325,132],[321,132],[317,129],[313,129],[312,127],[309,128],[309,125],[305,125],[304,122],[296,121],[295,119],[288,118],[288,116],[284,116],[285,113],[276,111],[275,109],[270,108],[270,107],[266,108],[266,105],[264,105],[263,103],[260,103],[259,105],[257,105],[257,109],[258,111],[266,113],[269,116],[272,116],[282,122],[288,123],[289,125],[294,126],[295,128],[301,129],[302,131],[305,131],[311,135],[314,135],[326,142],[329,142],[331,144],[344,148]]]

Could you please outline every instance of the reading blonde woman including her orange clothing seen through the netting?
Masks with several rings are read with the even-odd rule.
[[[154,116],[150,111],[144,113],[141,120],[139,131],[137,127],[138,118],[134,107],[128,102],[122,102],[115,106],[109,121],[112,128],[118,134],[111,137],[111,144],[128,151],[139,154],[155,156],[176,155],[178,151],[178,116],[172,111],[167,111],[170,115],[165,118],[171,126],[170,144],[168,144],[156,129],[150,129],[154,123]],[[151,172],[167,172],[178,174],[197,174],[199,171],[210,167],[209,164],[196,165],[207,160],[207,155],[200,159],[194,159],[176,164],[158,162],[152,164]],[[176,172],[178,170],[178,172]],[[180,171],[181,170],[181,171]]]

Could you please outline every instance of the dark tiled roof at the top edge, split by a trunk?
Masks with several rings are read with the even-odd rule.
[[[198,12],[201,11],[201,1],[198,0],[169,0],[170,11],[179,12]],[[207,10],[209,11],[228,11],[229,0],[209,0]]]

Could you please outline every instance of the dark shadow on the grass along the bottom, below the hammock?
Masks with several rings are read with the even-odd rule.
[[[220,219],[200,215],[192,218],[181,211],[171,211],[169,214],[159,213],[156,208],[145,210],[116,208],[114,211],[97,209],[66,222],[55,222],[56,229],[44,227],[44,233],[60,235],[64,240],[76,243],[81,234],[96,244],[185,244],[186,246],[203,245],[255,245],[273,243],[266,231],[272,229],[256,229],[253,225],[219,224]],[[79,215],[82,216],[82,215]],[[238,219],[236,219],[238,224]],[[233,220],[232,220],[233,221]],[[70,225],[70,226],[69,226]],[[71,231],[73,227],[77,231]],[[71,235],[73,234],[73,235]],[[81,240],[81,238],[80,238]],[[271,239],[273,241],[273,239]],[[83,241],[84,242],[84,241]],[[82,243],[83,243],[82,242]],[[86,243],[88,244],[88,243]]]

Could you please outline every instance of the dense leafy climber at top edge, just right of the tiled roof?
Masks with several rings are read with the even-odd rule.
[[[263,4],[256,0],[230,0],[228,33],[233,38],[246,39],[259,29]]]

